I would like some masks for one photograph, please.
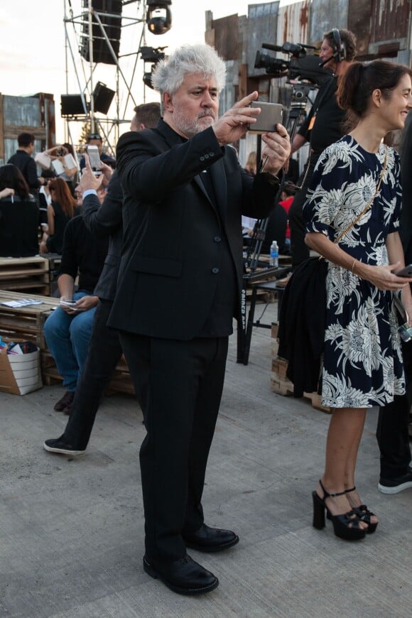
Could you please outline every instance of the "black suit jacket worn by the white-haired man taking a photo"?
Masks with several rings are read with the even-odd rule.
[[[183,141],[162,120],[156,129],[121,136],[116,161],[124,247],[108,324],[151,337],[192,339],[212,306],[223,231],[240,290],[241,215],[266,217],[277,179],[251,178],[234,148],[221,148],[211,128]],[[200,180],[206,168],[220,216]]]

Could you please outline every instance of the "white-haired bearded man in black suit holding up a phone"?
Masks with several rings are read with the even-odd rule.
[[[288,160],[286,129],[264,134],[264,171],[251,178],[229,143],[256,122],[257,92],[218,117],[225,66],[208,45],[161,61],[153,86],[163,119],[121,136],[124,246],[108,324],[142,402],[143,568],[180,594],[218,580],[186,548],[221,551],[239,538],[207,526],[202,490],[224,381],[228,336],[239,315],[242,214],[266,217]]]

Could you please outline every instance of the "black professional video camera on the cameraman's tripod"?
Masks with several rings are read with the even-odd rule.
[[[306,50],[315,50],[313,45],[303,45],[303,43],[284,43],[283,45],[270,45],[263,43],[264,49],[290,54],[290,60],[283,58],[273,58],[269,54],[256,52],[254,63],[255,69],[266,69],[266,73],[273,77],[288,77],[288,81],[309,82],[313,85],[321,85],[327,77],[332,75],[332,71],[320,66],[319,56],[307,54]]]

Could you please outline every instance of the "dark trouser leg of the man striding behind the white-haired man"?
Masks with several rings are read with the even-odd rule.
[[[99,403],[122,354],[118,332],[106,325],[112,304],[112,300],[102,299],[97,305],[87,359],[63,434],[68,443],[81,450],[87,447]]]

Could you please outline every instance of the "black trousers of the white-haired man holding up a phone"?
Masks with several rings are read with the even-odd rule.
[[[143,410],[140,450],[146,554],[176,560],[203,524],[207,457],[222,396],[227,337],[166,340],[121,331]]]

